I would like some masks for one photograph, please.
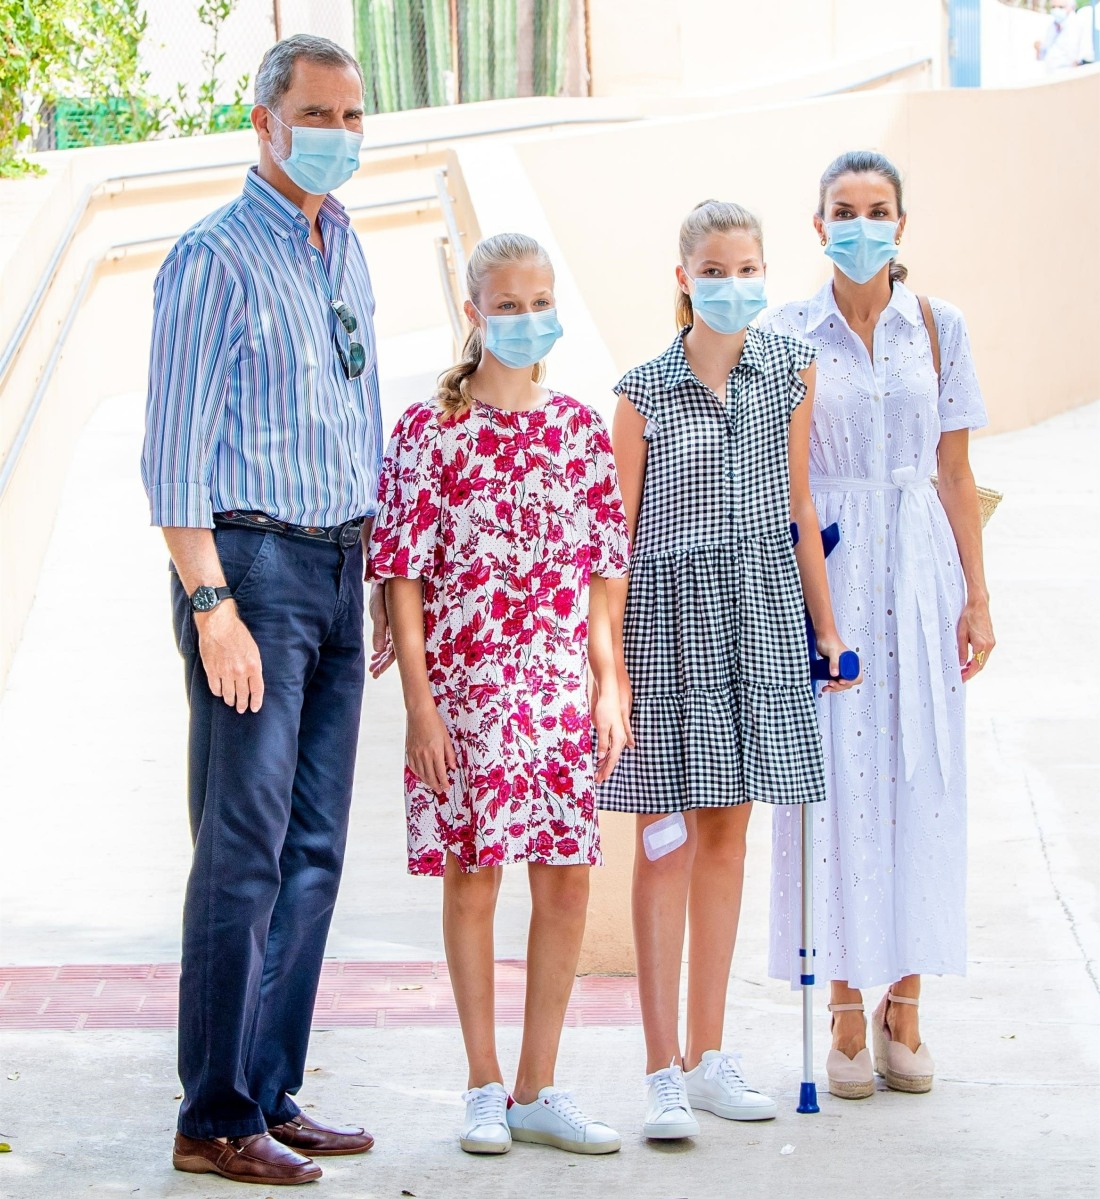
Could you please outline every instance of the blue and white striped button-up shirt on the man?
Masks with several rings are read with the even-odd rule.
[[[305,213],[256,169],[244,193],[175,243],[155,285],[142,478],[152,524],[215,512],[335,525],[377,508],[381,412],[374,293],[343,205]],[[330,305],[343,300],[351,337]],[[348,379],[337,355],[361,342]]]

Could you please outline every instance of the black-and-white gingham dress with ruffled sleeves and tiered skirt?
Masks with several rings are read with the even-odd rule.
[[[637,747],[601,808],[824,799],[787,465],[813,356],[749,329],[722,405],[677,337],[615,386],[645,417],[649,450],[624,628]]]

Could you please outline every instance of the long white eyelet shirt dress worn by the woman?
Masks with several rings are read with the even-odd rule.
[[[864,682],[818,699],[828,800],[813,813],[817,974],[864,988],[966,972],[966,727],[956,625],[962,570],[930,482],[942,433],[986,423],[966,324],[932,300],[937,388],[916,296],[901,284],[873,362],[832,284],[764,317],[817,349],[810,483],[841,638]],[[798,986],[800,821],[773,824],[769,972]]]

